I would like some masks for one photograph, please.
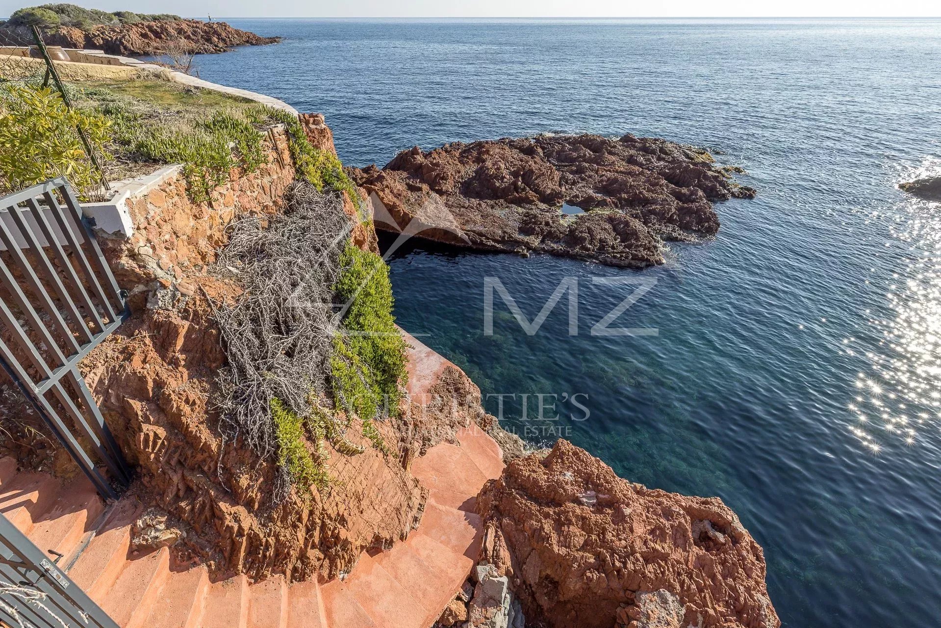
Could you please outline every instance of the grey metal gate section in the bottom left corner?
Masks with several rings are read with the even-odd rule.
[[[11,628],[118,628],[85,591],[3,515],[0,622]]]

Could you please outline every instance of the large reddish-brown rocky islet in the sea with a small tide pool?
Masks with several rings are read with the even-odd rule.
[[[349,169],[385,206],[379,229],[631,267],[662,264],[664,241],[718,232],[714,202],[755,197],[733,180],[742,171],[703,149],[630,134],[416,146],[382,169]]]

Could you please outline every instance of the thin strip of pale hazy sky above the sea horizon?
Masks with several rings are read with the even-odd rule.
[[[72,0],[88,8],[184,17],[941,16],[939,0]],[[0,15],[44,0],[0,0]]]

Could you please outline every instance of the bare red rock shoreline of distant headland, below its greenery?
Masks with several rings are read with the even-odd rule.
[[[31,31],[24,26],[3,28],[7,39],[32,45]],[[96,25],[89,30],[74,26],[61,26],[45,32],[43,39],[48,45],[64,48],[90,48],[104,50],[108,55],[142,56],[155,55],[167,49],[168,44],[182,44],[194,53],[224,53],[232,46],[263,45],[279,41],[277,37],[261,37],[225,22],[202,22],[200,20],[173,20],[161,22],[138,22],[115,26]]]

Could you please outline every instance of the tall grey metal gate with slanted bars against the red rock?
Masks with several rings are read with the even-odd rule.
[[[130,314],[125,296],[64,178],[0,199],[0,365],[111,499],[95,459],[121,488],[130,472],[76,366]]]

